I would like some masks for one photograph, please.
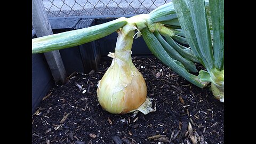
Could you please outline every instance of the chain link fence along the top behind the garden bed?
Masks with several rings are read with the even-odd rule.
[[[42,0],[48,17],[149,13],[172,0]]]

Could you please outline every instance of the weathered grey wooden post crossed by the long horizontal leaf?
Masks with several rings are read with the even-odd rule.
[[[37,37],[53,34],[42,0],[32,0],[32,25]],[[67,74],[59,50],[45,52],[44,56],[52,71],[54,81],[57,84],[63,84]]]

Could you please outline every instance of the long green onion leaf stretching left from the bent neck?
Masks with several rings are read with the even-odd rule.
[[[97,26],[34,38],[32,39],[32,53],[60,50],[92,42],[96,39],[110,35],[123,27],[127,23],[126,19],[127,18],[122,17]]]

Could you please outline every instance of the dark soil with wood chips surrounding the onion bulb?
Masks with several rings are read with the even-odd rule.
[[[108,60],[97,72],[73,73],[52,88],[32,116],[33,143],[224,143],[224,104],[210,86],[191,85],[155,57],[132,60],[154,113],[117,115],[101,108],[97,83]]]

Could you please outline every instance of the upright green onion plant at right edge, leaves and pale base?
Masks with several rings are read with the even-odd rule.
[[[199,71],[198,78],[211,82],[213,95],[224,102],[224,0],[210,0],[209,7],[204,0],[174,0],[173,4],[191,50],[207,70]]]

